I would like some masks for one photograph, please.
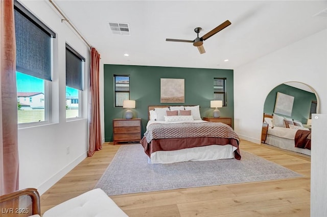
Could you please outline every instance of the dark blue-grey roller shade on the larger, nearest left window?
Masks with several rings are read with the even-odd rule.
[[[17,1],[14,16],[17,71],[51,81],[51,38],[56,34]]]

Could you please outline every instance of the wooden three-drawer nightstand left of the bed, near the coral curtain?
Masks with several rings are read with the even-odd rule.
[[[141,118],[113,119],[113,144],[141,141]]]

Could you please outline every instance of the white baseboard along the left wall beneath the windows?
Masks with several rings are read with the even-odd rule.
[[[62,177],[64,177],[69,171],[73,170],[75,166],[77,166],[80,162],[82,162],[87,157],[87,152],[76,158],[72,163],[68,164],[57,174],[52,176],[47,181],[43,182],[40,186],[38,186],[37,191],[40,195],[42,195],[45,191],[47,191],[51,186],[56,184]]]

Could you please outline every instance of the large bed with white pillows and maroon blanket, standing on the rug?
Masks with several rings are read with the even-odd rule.
[[[226,124],[202,120],[199,106],[149,106],[148,111],[141,144],[149,163],[241,159],[238,135]]]

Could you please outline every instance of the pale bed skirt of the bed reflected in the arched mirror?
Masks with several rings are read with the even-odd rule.
[[[286,149],[289,151],[306,154],[311,156],[311,150],[309,149],[300,149],[295,147],[294,139],[281,138],[278,136],[273,136],[268,134],[266,143],[271,146],[275,146],[281,149]]]

